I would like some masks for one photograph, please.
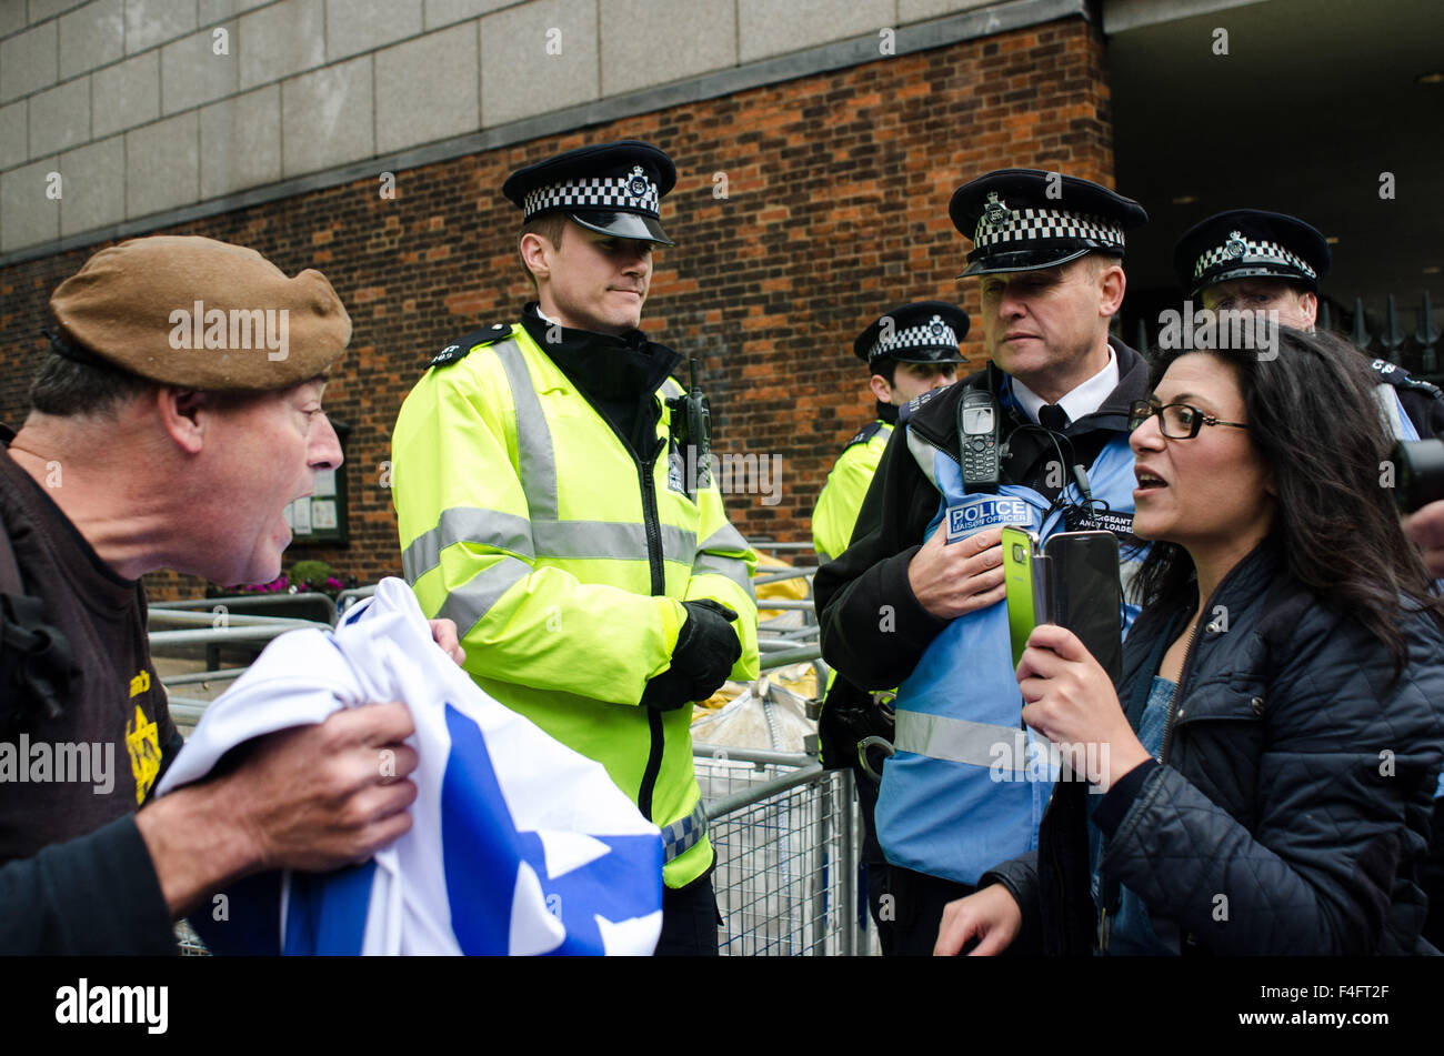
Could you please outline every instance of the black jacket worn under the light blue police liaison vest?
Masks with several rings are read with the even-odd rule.
[[[1128,428],[1128,405],[1148,395],[1148,365],[1119,340],[1109,339],[1118,358],[1118,387],[1093,413],[1071,423],[1066,436],[1073,454],[1084,467],[1118,433]],[[957,404],[963,391],[985,377],[969,377],[944,390],[914,400],[908,428],[957,457]],[[1011,413],[1002,413],[1002,436],[1011,431]],[[1054,446],[1035,431],[1018,433],[1004,459],[1004,479],[1047,488],[1047,466],[1056,460]],[[882,452],[882,462],[862,501],[852,542],[836,561],[825,564],[813,578],[817,622],[822,625],[822,655],[849,681],[864,690],[900,685],[917,666],[923,652],[947,626],[930,616],[908,584],[907,567],[923,545],[923,532],[937,514],[937,488],[918,467],[907,446],[907,430],[897,428]]]

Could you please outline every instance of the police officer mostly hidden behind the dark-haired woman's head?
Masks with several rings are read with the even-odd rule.
[[[1229,209],[1196,224],[1174,245],[1174,273],[1210,312],[1278,312],[1282,326],[1313,333],[1328,242],[1297,216]],[[1444,433],[1444,392],[1386,359],[1372,359],[1376,395],[1393,436]]]

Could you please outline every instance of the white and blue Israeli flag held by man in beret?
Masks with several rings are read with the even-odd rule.
[[[362,866],[270,873],[191,918],[217,952],[651,954],[661,834],[596,762],[482,692],[412,590],[383,580],[334,635],[295,630],[206,708],[159,795],[230,749],[400,700],[419,756],[412,830]]]

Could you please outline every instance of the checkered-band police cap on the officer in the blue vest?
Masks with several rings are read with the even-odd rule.
[[[1123,255],[1123,232],[1148,222],[1132,198],[1043,169],[996,169],[953,192],[949,216],[967,238],[966,276],[1035,271],[1086,252]]]

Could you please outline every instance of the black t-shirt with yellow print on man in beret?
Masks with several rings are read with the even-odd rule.
[[[105,566],[61,512],[46,488],[65,486],[65,467],[49,469],[38,483],[0,452],[0,519],[25,593],[43,600],[74,661],[58,718],[0,724],[0,863],[133,814],[175,737],[150,664],[144,587]]]

